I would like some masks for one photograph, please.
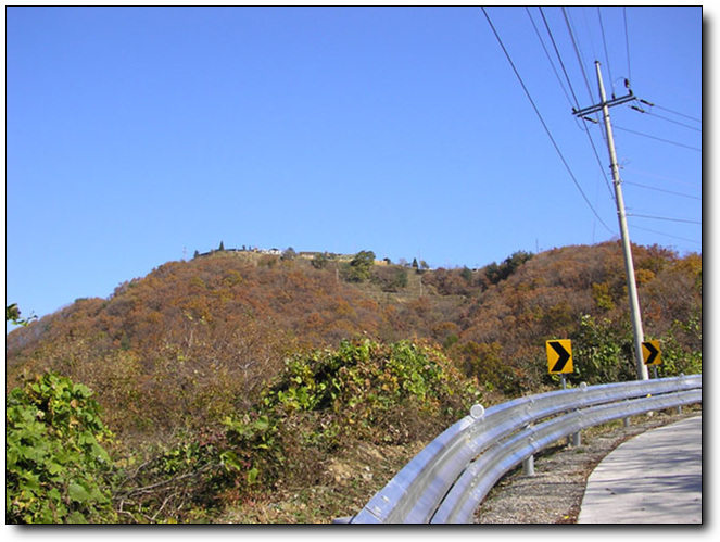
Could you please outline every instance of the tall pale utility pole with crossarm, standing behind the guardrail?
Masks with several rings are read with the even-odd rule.
[[[632,90],[628,89],[628,96],[612,98],[607,101],[605,98],[605,87],[603,86],[603,76],[601,74],[599,62],[595,61],[597,72],[597,86],[599,88],[601,102],[580,111],[574,111],[576,116],[584,117],[591,113],[603,112],[605,123],[605,133],[607,134],[607,149],[610,155],[610,168],[612,169],[612,185],[615,186],[615,203],[618,207],[618,220],[620,223],[620,238],[622,240],[622,255],[626,264],[626,278],[628,280],[628,297],[630,298],[630,316],[632,320],[632,332],[635,346],[635,366],[637,368],[637,379],[647,380],[647,367],[643,360],[643,322],[640,315],[640,301],[637,299],[637,286],[635,285],[635,268],[632,263],[632,250],[630,247],[630,236],[628,235],[628,220],[626,218],[624,200],[622,199],[622,188],[620,181],[620,168],[615,153],[615,140],[612,139],[612,126],[610,125],[610,108],[619,105],[631,100],[635,100]]]

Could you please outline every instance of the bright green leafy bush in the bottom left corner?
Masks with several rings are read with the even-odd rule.
[[[116,520],[111,437],[84,385],[48,373],[5,399],[5,521],[85,524]]]

